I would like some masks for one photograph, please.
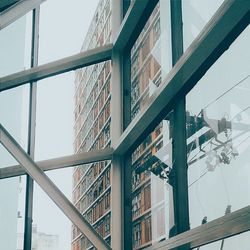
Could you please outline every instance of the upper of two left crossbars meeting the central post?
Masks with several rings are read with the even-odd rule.
[[[0,78],[0,92],[23,85],[25,83],[35,82],[47,77],[110,60],[112,48],[113,45],[108,44],[103,47],[91,49],[57,60],[55,62],[47,63],[35,68],[2,77]]]

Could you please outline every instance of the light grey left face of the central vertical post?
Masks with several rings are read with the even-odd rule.
[[[123,1],[111,0],[112,42],[120,29],[123,17]],[[112,53],[111,77],[111,145],[122,134],[122,56],[120,51]],[[111,166],[111,248],[123,249],[122,237],[122,160],[114,156]]]

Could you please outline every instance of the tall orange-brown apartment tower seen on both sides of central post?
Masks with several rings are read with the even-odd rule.
[[[111,41],[111,3],[99,2],[84,40],[82,51]],[[131,116],[140,111],[152,88],[161,83],[161,66],[150,53],[160,37],[159,5],[155,8],[131,51]],[[150,55],[151,54],[151,55]],[[77,70],[75,76],[75,153],[110,146],[110,61]],[[132,155],[133,190],[133,248],[143,249],[152,244],[151,174],[136,174],[146,157],[163,146],[162,123]],[[150,147],[148,145],[150,144]],[[73,172],[73,203],[101,236],[111,241],[110,235],[110,161],[77,166]],[[161,185],[161,184],[160,184]],[[157,188],[157,187],[155,187]],[[164,198],[158,197],[157,218],[160,222],[155,239],[165,235]],[[72,250],[91,249],[80,231],[72,226]]]

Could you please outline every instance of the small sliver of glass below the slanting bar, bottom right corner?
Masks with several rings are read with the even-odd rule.
[[[243,250],[248,249],[250,243],[250,232],[242,233],[230,238],[210,243],[205,246],[194,248],[196,250]]]

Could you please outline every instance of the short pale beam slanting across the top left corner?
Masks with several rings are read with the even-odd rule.
[[[0,13],[0,30],[35,9],[45,0],[23,0]]]

